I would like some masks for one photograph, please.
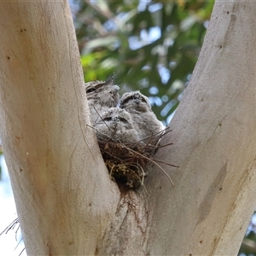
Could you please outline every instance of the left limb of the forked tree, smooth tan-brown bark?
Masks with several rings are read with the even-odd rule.
[[[1,138],[26,251],[92,255],[119,193],[86,126],[68,3],[3,2],[0,27]]]

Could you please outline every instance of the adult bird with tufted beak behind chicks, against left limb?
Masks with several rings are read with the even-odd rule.
[[[90,108],[92,125],[100,119],[102,112],[116,107],[119,103],[119,86],[114,84],[113,76],[106,81],[90,81],[85,83],[86,98]]]

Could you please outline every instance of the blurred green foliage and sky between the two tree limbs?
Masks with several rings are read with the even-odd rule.
[[[179,1],[142,5],[120,2],[73,5],[77,8],[75,25],[85,79],[106,79],[115,71],[121,84],[149,95],[154,112],[160,119],[166,119],[177,108],[192,73],[212,3]],[[201,7],[209,9],[203,11]],[[79,26],[79,21],[88,26]],[[150,31],[157,32],[158,26],[160,38],[155,39]],[[157,105],[166,110],[160,114]]]

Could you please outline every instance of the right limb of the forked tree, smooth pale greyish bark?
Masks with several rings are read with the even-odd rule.
[[[148,179],[153,255],[236,255],[256,206],[256,3],[215,3],[199,61]],[[155,199],[157,194],[157,199]],[[151,206],[149,205],[149,209]],[[153,226],[152,224],[152,226]]]

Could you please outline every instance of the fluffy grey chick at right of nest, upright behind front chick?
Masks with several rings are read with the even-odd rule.
[[[131,119],[140,140],[143,143],[158,143],[157,138],[165,126],[158,120],[151,109],[148,97],[139,90],[125,92],[119,102],[119,108],[131,114]]]

